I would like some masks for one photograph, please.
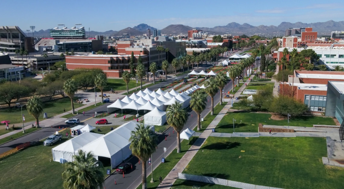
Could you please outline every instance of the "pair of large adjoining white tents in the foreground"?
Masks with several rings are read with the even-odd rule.
[[[128,122],[109,133],[82,133],[71,140],[68,140],[52,149],[53,160],[61,162],[64,159],[67,162],[74,160],[73,156],[78,153],[79,149],[85,152],[93,152],[96,159],[107,157],[111,160],[111,168],[115,168],[123,160],[127,159],[132,153],[129,149],[131,131],[135,131],[139,123]],[[145,124],[145,126],[148,126]],[[154,126],[151,126],[154,131]]]

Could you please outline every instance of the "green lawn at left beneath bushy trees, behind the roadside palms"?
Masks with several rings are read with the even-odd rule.
[[[74,108],[82,107],[85,104],[74,103]],[[72,110],[71,99],[63,98],[59,100],[46,101],[43,104],[44,110],[48,114],[48,117],[51,118],[55,115],[63,113],[63,109],[66,111]],[[26,108],[23,108],[23,114],[25,115],[25,122],[35,121],[34,117],[28,113]],[[11,124],[21,123],[21,109],[20,108],[10,108],[0,110],[0,120],[9,120]],[[40,119],[43,120],[43,113],[40,115]]]

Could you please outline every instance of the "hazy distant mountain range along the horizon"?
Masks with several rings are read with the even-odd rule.
[[[259,25],[259,26],[252,26],[250,24],[238,24],[236,22],[229,23],[224,26],[215,26],[215,27],[190,27],[181,24],[173,24],[165,27],[161,30],[162,34],[187,34],[188,30],[192,29],[199,29],[203,30],[203,32],[209,32],[210,34],[280,34],[283,35],[285,30],[288,28],[297,28],[297,27],[313,27],[313,31],[319,32],[319,34],[331,34],[331,31],[344,31],[344,21],[335,22],[333,20],[327,22],[315,22],[315,23],[290,23],[290,22],[282,22],[278,26],[274,25]],[[120,31],[106,31],[106,32],[96,32],[91,31],[90,35],[105,35],[105,36],[121,36],[122,34],[130,34],[131,36],[142,35],[146,33],[147,29],[151,29],[151,34],[153,34],[153,30],[156,30],[155,27],[152,27],[147,24],[139,24],[134,27],[127,27]],[[31,33],[31,32],[30,32]],[[35,31],[35,36],[42,36],[42,37],[49,37],[49,30],[40,30]],[[88,32],[86,32],[88,36]]]

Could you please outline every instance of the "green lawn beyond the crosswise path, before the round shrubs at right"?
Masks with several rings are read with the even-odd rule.
[[[270,113],[232,112],[225,115],[216,126],[218,133],[233,133],[233,118],[235,132],[258,132],[258,124],[264,125],[288,125],[284,120],[272,120]],[[332,118],[320,116],[291,116],[289,126],[313,127],[317,125],[336,125]]]

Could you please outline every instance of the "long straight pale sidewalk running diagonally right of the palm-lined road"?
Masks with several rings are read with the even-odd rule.
[[[250,76],[250,80],[254,75]],[[247,80],[245,83],[249,84],[250,80]],[[235,93],[234,97],[239,97],[241,92],[245,89],[245,85],[241,86],[240,89]],[[209,124],[206,130],[198,137],[196,142],[190,147],[190,149],[185,153],[185,155],[179,160],[179,162],[173,167],[170,173],[163,179],[162,184],[158,188],[170,188],[173,183],[178,178],[178,173],[182,173],[187,164],[190,163],[191,159],[196,155],[197,151],[202,147],[203,143],[207,138],[212,134],[212,129],[214,129],[217,124],[222,120],[226,115],[229,108],[232,106],[232,103],[227,103],[225,107],[216,115],[215,119]]]

